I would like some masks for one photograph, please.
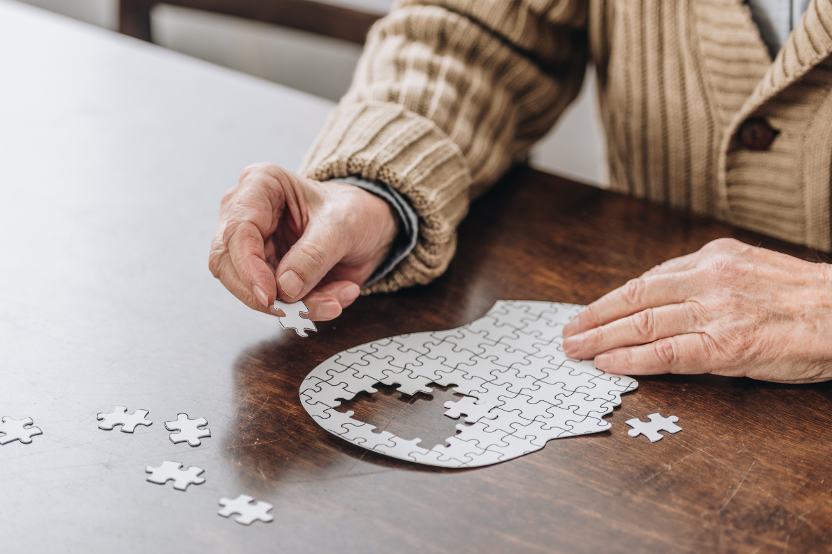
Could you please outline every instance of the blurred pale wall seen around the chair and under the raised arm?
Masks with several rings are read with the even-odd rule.
[[[384,13],[394,0],[317,0]],[[117,0],[22,0],[99,27],[118,27]],[[154,40],[164,47],[337,100],[349,86],[360,47],[260,22],[162,5],[153,12]],[[583,182],[607,183],[595,79],[532,150],[532,165]]]

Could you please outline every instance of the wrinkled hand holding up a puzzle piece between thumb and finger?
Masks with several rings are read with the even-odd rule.
[[[303,298],[310,319],[327,321],[387,258],[398,224],[387,201],[352,184],[256,164],[222,199],[209,267],[250,308],[276,315],[275,297]]]

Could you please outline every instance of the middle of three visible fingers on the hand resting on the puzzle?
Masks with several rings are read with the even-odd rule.
[[[622,346],[644,345],[669,336],[701,331],[699,312],[696,302],[647,308],[607,325],[569,336],[563,341],[563,349],[572,359],[589,360]]]

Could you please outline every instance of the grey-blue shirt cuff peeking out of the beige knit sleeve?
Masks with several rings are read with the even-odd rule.
[[[364,283],[364,287],[369,287],[370,285],[379,282],[382,278],[387,277],[387,274],[391,272],[393,268],[399,264],[399,262],[404,260],[410,252],[413,252],[413,249],[416,246],[416,239],[418,238],[418,215],[416,215],[414,208],[410,207],[408,201],[404,199],[404,196],[399,194],[399,191],[391,187],[389,184],[384,184],[381,181],[371,181],[362,177],[354,177],[352,175],[349,177],[330,179],[330,181],[354,184],[360,189],[373,193],[376,196],[387,200],[390,207],[393,208],[399,215],[399,222],[401,223],[401,227],[399,227],[399,235],[393,243],[393,248],[390,251],[390,255],[387,257],[387,260],[385,260],[384,263],[382,263],[375,270],[373,275],[367,279],[367,282]]]

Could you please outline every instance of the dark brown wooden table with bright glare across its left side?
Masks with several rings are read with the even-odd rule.
[[[832,551],[829,385],[641,378],[610,431],[468,470],[355,447],[298,398],[350,346],[460,326],[498,299],[591,302],[714,238],[826,257],[518,168],[474,203],[443,277],[362,297],[300,339],[225,292],[207,247],[236,171],[269,153],[296,164],[328,104],[0,0],[9,51],[0,415],[43,434],[0,446],[2,552]],[[441,415],[451,396],[388,388],[351,409],[435,443],[457,423]],[[97,429],[116,404],[154,423]],[[626,419],[655,411],[684,430],[627,436]],[[168,440],[179,412],[208,419],[201,447]],[[206,483],[146,483],[165,459]],[[240,493],[273,503],[275,521],[215,515]]]

